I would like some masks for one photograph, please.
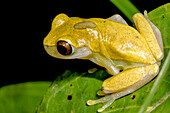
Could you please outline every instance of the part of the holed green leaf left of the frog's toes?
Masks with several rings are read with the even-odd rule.
[[[96,92],[101,89],[102,80],[104,80],[107,75],[108,74],[103,70],[91,75],[87,75],[87,73],[78,74],[66,71],[49,87],[37,112],[95,112],[101,105],[87,106],[86,101],[90,98],[97,99]]]

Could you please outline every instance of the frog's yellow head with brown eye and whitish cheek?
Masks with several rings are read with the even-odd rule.
[[[68,33],[71,31],[67,27],[70,24],[69,19],[65,14],[59,14],[54,18],[52,29],[44,39],[44,48],[49,55],[56,58],[86,59],[92,52],[89,47],[81,46],[85,40],[75,38],[74,33]]]

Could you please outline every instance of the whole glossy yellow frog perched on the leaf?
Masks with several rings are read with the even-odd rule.
[[[97,92],[103,96],[88,105],[103,103],[104,111],[116,99],[149,83],[159,72],[164,56],[161,32],[147,12],[133,15],[136,28],[119,15],[107,19],[57,15],[43,41],[46,52],[59,59],[83,59],[104,67],[111,75]]]

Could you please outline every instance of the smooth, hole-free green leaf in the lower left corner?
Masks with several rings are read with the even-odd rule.
[[[50,82],[28,82],[0,88],[0,113],[35,113]]]

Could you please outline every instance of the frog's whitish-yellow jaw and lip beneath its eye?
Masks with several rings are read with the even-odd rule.
[[[55,46],[44,45],[44,48],[49,55],[60,59],[82,59],[92,54],[92,51],[88,47],[75,48],[71,55],[61,55]]]

